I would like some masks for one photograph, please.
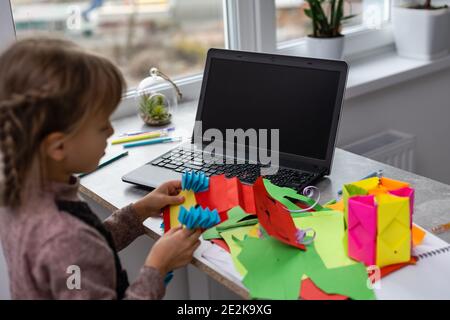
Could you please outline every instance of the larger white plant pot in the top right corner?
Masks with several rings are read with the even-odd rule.
[[[433,60],[448,55],[450,11],[394,7],[395,44],[399,56]]]

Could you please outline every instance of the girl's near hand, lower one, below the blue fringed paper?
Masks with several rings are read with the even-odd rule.
[[[181,226],[170,229],[153,245],[145,260],[145,266],[158,270],[163,277],[167,272],[183,267],[192,261],[202,231]]]

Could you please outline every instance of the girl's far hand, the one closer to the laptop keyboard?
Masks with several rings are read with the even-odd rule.
[[[157,217],[165,206],[184,202],[184,197],[178,195],[180,191],[181,181],[168,181],[135,202],[133,208],[141,221],[148,217]]]

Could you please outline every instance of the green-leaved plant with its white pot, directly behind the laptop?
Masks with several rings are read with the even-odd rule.
[[[355,15],[344,16],[344,0],[306,0],[305,14],[312,20],[313,33],[307,37],[309,56],[341,59],[344,51],[342,23]]]

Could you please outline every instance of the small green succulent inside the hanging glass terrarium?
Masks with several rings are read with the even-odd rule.
[[[145,94],[142,96],[139,108],[143,120],[150,125],[163,125],[170,122],[169,103],[162,94]]]

